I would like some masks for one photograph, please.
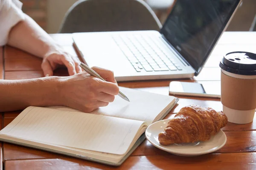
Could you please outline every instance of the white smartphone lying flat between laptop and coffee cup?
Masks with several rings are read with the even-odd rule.
[[[170,95],[221,98],[221,82],[170,82]]]

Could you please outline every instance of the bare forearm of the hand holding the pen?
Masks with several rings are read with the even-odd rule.
[[[0,80],[0,112],[28,106],[61,105],[61,77]]]

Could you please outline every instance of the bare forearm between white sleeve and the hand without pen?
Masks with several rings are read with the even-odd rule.
[[[38,57],[59,48],[49,34],[27,15],[9,32],[8,44]]]

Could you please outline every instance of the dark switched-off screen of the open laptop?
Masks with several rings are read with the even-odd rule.
[[[177,0],[160,32],[198,74],[239,1]]]

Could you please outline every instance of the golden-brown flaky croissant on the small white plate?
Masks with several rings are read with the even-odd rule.
[[[227,116],[212,108],[189,105],[180,109],[159,133],[160,144],[180,144],[208,141],[222,127],[227,125]]]

